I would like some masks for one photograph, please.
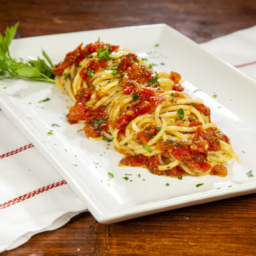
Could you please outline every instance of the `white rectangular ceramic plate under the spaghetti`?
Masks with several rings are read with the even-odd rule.
[[[230,161],[224,178],[205,175],[179,180],[152,175],[143,168],[118,167],[123,156],[113,145],[88,140],[84,132],[77,132],[81,125],[68,124],[65,114],[73,103],[54,84],[0,81],[0,108],[63,175],[99,222],[113,223],[256,191],[256,177],[246,175],[256,165],[255,82],[169,26],[22,38],[13,41],[10,51],[14,58],[26,59],[41,56],[43,48],[58,63],[81,42],[88,44],[99,37],[137,52],[148,63],[157,64],[157,71],[179,72],[189,81],[184,83],[185,92],[204,99],[211,108],[212,122],[230,137],[243,160],[242,164]],[[216,99],[212,99],[214,94]],[[51,100],[38,103],[46,98]],[[60,127],[51,127],[53,123]],[[52,135],[47,134],[50,130]],[[108,172],[114,177],[109,178]],[[125,175],[129,180],[123,179]],[[196,184],[204,185],[196,188]]]

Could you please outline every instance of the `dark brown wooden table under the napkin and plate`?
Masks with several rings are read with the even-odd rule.
[[[256,24],[255,0],[0,0],[17,37],[166,23],[198,43]],[[82,213],[2,255],[256,255],[256,195],[102,225]],[[1,231],[0,231],[1,232]]]

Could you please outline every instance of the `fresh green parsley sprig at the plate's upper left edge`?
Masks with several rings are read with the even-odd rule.
[[[0,79],[19,78],[54,83],[52,61],[44,50],[42,50],[42,54],[47,62],[39,57],[37,60],[29,61],[24,61],[21,58],[15,60],[11,57],[9,46],[18,26],[19,22],[15,26],[6,28],[4,35],[0,34]]]

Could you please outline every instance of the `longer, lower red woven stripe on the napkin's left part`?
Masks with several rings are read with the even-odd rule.
[[[45,186],[43,188],[36,189],[36,190],[34,190],[32,192],[29,192],[28,194],[16,197],[16,198],[14,198],[14,199],[12,199],[12,200],[10,200],[8,202],[0,204],[0,210],[4,209],[6,207],[10,207],[13,204],[17,204],[19,202],[22,202],[22,201],[24,201],[26,199],[29,199],[29,198],[33,197],[33,196],[39,195],[41,193],[44,193],[45,191],[48,191],[48,190],[50,190],[52,188],[57,188],[57,187],[60,187],[62,185],[65,185],[65,184],[67,184],[66,180],[61,180],[59,182],[53,183],[53,184]]]

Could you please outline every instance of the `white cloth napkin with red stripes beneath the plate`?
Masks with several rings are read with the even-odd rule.
[[[256,26],[202,44],[256,80]],[[0,106],[1,108],[1,106]],[[0,252],[59,228],[86,206],[0,111]]]

